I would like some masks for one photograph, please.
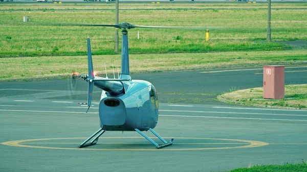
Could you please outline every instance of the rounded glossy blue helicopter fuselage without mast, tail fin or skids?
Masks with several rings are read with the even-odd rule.
[[[102,84],[103,82],[101,82]],[[105,131],[147,131],[158,123],[159,102],[157,91],[147,81],[109,81],[112,90],[106,91],[99,103],[100,127]],[[123,91],[121,92],[121,86]],[[99,86],[99,82],[95,82]],[[105,85],[105,84],[104,84]],[[119,93],[119,94],[115,94]]]

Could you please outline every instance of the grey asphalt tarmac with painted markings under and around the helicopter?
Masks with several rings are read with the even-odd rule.
[[[306,84],[306,76],[307,65],[286,65],[286,84]],[[175,138],[173,145],[158,150],[136,132],[105,132],[96,145],[79,149],[99,129],[98,107],[85,113],[77,104],[86,101],[84,81],[0,83],[0,171],[227,171],[307,159],[306,110],[214,99],[224,91],[261,87],[262,66],[132,77],[157,88],[155,131]],[[94,105],[99,94],[95,89]]]

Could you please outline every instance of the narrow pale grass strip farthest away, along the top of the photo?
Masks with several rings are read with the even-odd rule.
[[[307,9],[305,3],[277,3],[272,2],[272,8],[276,9]],[[120,2],[119,8],[122,9],[259,9],[268,8],[267,3],[163,3],[151,4],[151,2],[146,3],[125,3]],[[0,6],[0,10],[54,10],[54,9],[64,9],[64,10],[78,10],[78,9],[115,9],[115,4],[113,3],[68,3],[62,2],[62,4],[6,4],[5,6]]]

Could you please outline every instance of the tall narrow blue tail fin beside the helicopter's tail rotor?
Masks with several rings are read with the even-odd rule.
[[[92,60],[92,51],[91,51],[91,43],[90,38],[87,38],[87,64],[89,67],[89,87],[87,89],[87,106],[91,106],[92,103],[92,95],[93,95],[93,88],[94,88],[94,69],[93,69],[93,60]],[[89,110],[89,109],[87,109]],[[87,112],[87,111],[86,111]]]

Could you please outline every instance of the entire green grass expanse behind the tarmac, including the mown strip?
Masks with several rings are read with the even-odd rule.
[[[112,64],[116,68],[120,66],[120,55],[114,53],[114,28],[52,24],[113,24],[114,8],[114,4],[105,3],[0,6],[0,80],[68,76],[73,70],[86,72],[87,37],[91,38],[95,69],[103,73],[105,62],[107,70],[112,72]],[[273,42],[270,43],[266,42],[266,8],[265,3],[120,3],[120,9],[125,9],[120,10],[120,22],[222,27],[210,29],[210,41],[207,42],[205,30],[128,30],[130,71],[173,71],[307,60],[306,48],[296,49],[279,42],[307,40],[307,4],[272,4]],[[31,22],[23,22],[23,16],[30,16]]]

